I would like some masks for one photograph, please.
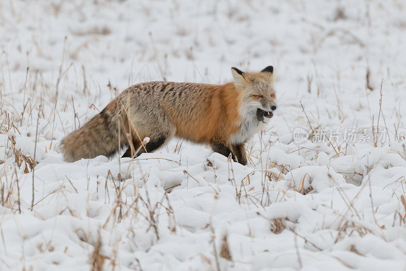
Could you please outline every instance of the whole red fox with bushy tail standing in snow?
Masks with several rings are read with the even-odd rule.
[[[124,147],[122,157],[138,157],[177,136],[209,144],[246,165],[244,144],[277,108],[274,67],[260,72],[233,67],[231,72],[234,81],[223,85],[156,81],[128,87],[62,140],[65,161],[111,157]],[[146,144],[145,137],[150,138]]]

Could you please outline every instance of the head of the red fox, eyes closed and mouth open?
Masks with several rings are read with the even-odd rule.
[[[234,85],[241,93],[240,113],[247,116],[256,116],[259,122],[264,117],[274,116],[277,108],[274,89],[274,67],[268,66],[260,72],[242,72],[231,68]]]

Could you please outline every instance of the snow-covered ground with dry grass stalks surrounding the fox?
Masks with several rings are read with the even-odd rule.
[[[404,1],[0,1],[0,269],[404,270],[405,44]],[[131,84],[268,65],[247,166],[62,160]]]

